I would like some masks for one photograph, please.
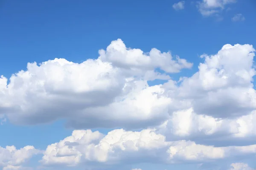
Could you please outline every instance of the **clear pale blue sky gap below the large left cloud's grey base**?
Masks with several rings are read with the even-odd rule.
[[[17,149],[32,145],[37,149],[46,149],[48,144],[59,142],[72,134],[71,129],[64,128],[64,121],[34,126],[16,126],[9,122],[0,126],[0,146],[15,145]]]

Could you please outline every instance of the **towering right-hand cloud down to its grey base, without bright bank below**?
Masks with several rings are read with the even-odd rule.
[[[224,45],[215,55],[203,55],[204,63],[192,77],[163,85],[169,98],[215,118],[247,115],[256,108],[253,88],[255,69],[252,45]],[[185,108],[185,107],[184,107]]]

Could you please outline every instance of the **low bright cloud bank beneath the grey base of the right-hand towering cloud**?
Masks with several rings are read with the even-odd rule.
[[[202,144],[254,144],[256,112],[234,119],[198,115],[192,108],[177,111],[157,130],[167,139],[187,139]]]

